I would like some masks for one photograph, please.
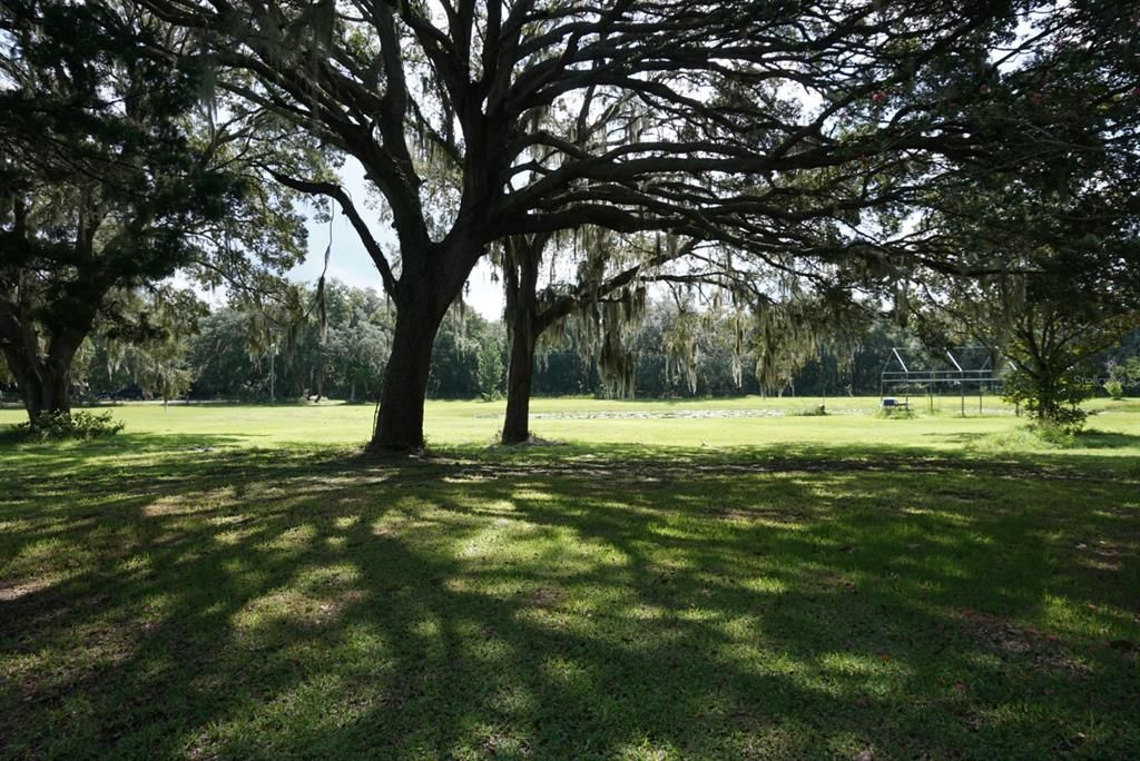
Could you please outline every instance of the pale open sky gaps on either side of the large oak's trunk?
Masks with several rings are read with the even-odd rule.
[[[364,167],[356,159],[349,158],[340,174],[344,190],[369,222],[373,237],[382,245],[394,244],[396,237],[392,230],[378,221],[378,213],[369,208],[372,204],[365,203],[368,197],[368,181],[364,177]],[[309,255],[302,264],[290,270],[291,279],[309,284],[317,281],[324,267],[325,248],[329,245],[332,235],[328,278],[355,288],[372,288],[380,293],[380,272],[376,271],[376,265],[372,263],[372,257],[360,243],[360,237],[340,208],[336,210],[332,230],[327,222],[316,222],[311,219],[308,228]],[[487,319],[498,320],[503,317],[503,286],[491,281],[491,267],[486,260],[479,263],[467,279],[464,301]]]

